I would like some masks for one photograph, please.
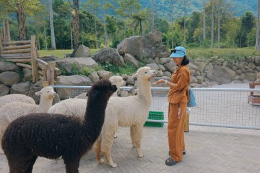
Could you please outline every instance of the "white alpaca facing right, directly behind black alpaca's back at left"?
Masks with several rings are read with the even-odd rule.
[[[55,96],[53,88],[42,88],[40,92],[36,92],[36,95],[40,96],[40,105],[22,103],[17,100],[17,102],[9,103],[0,108],[0,141],[5,129],[16,118],[31,113],[47,113]],[[0,153],[2,152],[0,144]]]

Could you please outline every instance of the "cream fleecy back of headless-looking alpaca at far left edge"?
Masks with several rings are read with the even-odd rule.
[[[36,104],[34,99],[29,96],[25,96],[23,94],[10,94],[6,96],[0,96],[0,107],[3,107],[8,103],[17,102],[17,101],[34,104],[34,105]]]

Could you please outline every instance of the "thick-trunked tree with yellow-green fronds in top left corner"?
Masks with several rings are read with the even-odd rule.
[[[18,21],[18,31],[21,40],[26,40],[25,21],[26,14],[33,14],[38,11],[38,0],[2,0],[3,6],[8,8],[8,11],[16,12]]]

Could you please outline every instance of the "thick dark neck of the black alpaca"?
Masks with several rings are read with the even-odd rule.
[[[91,142],[95,142],[101,133],[105,119],[105,108],[108,99],[105,96],[94,100],[88,99],[86,114],[83,121],[84,131]],[[88,115],[88,116],[87,116]]]

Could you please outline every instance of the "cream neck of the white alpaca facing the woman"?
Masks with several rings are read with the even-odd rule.
[[[152,92],[151,83],[148,79],[138,77],[138,97],[142,98],[148,105],[151,105]]]

